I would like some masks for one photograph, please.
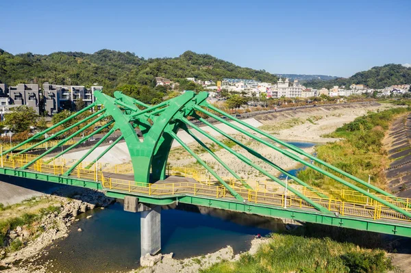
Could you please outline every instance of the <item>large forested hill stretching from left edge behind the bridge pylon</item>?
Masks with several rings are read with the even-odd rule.
[[[207,54],[186,51],[179,57],[145,60],[134,53],[103,49],[92,54],[56,52],[50,55],[24,53],[12,55],[0,49],[0,82],[103,85],[106,90],[119,86],[152,86],[155,77],[173,81],[196,77],[214,81],[244,78],[276,82],[277,76],[264,70],[242,68]]]

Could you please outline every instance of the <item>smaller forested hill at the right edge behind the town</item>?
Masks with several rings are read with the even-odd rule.
[[[312,88],[332,88],[333,86],[351,86],[351,84],[365,84],[369,88],[385,88],[393,84],[411,83],[411,68],[401,64],[386,64],[375,66],[370,70],[358,72],[349,78],[337,78],[330,81],[312,80],[304,83]]]

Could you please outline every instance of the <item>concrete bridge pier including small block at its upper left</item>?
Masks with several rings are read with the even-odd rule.
[[[138,198],[125,196],[124,210],[140,212],[141,257],[161,250],[161,207],[138,203]]]

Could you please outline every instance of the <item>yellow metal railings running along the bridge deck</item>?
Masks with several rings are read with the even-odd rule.
[[[29,161],[36,158],[36,155],[5,155],[1,157],[2,168],[21,168]],[[204,183],[197,182],[179,182],[179,183],[163,183],[163,184],[149,184],[138,183],[135,181],[127,181],[121,179],[114,179],[104,177],[101,171],[101,164],[95,164],[90,169],[84,168],[88,164],[79,164],[72,172],[71,177],[79,179],[87,179],[90,181],[100,182],[106,189],[123,190],[125,192],[134,192],[140,194],[148,194],[150,196],[163,196],[173,194],[193,194],[202,196],[212,196],[215,198],[234,198],[232,194],[220,183],[215,183],[212,179],[205,180]],[[40,160],[28,167],[29,170],[49,174],[64,174],[69,170],[70,166],[64,164],[55,164],[52,161],[46,164]],[[196,169],[188,168],[171,168],[168,170],[169,174],[180,175],[182,177],[195,177],[203,179],[205,173],[199,172]],[[231,179],[231,180],[230,180]],[[257,184],[254,189],[246,189],[240,185],[240,181],[232,178],[227,179],[227,183],[236,186],[235,190],[248,202],[278,205],[282,207],[300,207],[314,209],[312,205],[302,200],[292,192],[285,194],[284,187],[272,187],[267,189],[266,182]],[[359,216],[373,219],[390,219],[390,220],[405,220],[410,221],[403,214],[393,211],[381,203],[375,202],[371,198],[354,192],[351,190],[332,191],[330,193],[323,192],[314,187],[302,187],[290,181],[290,186],[295,187],[296,190],[307,196],[314,202],[329,209],[329,211],[338,212],[343,216]],[[287,197],[286,197],[287,196]],[[406,211],[411,211],[410,202],[408,198],[390,198],[377,194],[380,198],[384,198],[393,205],[401,207]]]

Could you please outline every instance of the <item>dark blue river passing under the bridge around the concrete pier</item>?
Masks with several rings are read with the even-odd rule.
[[[292,142],[299,148],[315,144]],[[293,174],[299,168],[290,170]],[[87,216],[92,218],[86,219]],[[192,205],[162,209],[163,254],[173,252],[176,259],[206,255],[225,246],[245,252],[256,234],[268,235],[284,230],[275,218],[254,216]],[[69,237],[45,249],[35,263],[49,263],[53,272],[129,272],[140,260],[140,213],[123,211],[121,203],[83,213],[71,226]],[[82,229],[82,232],[77,231]],[[53,268],[51,268],[53,265]]]

